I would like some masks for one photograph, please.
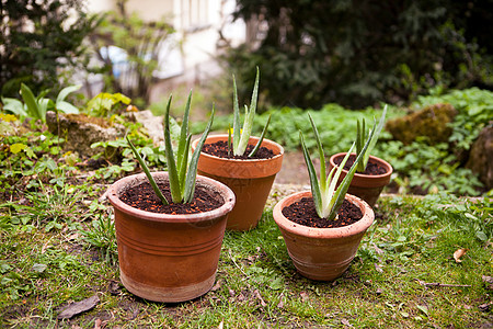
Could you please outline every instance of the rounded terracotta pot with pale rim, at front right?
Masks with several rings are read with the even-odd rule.
[[[283,208],[302,197],[311,197],[311,192],[298,192],[279,201],[274,207],[274,220],[298,272],[311,280],[332,281],[349,266],[365,231],[374,223],[374,211],[363,200],[346,194],[346,200],[362,211],[363,218],[344,227],[313,228],[283,215]]]

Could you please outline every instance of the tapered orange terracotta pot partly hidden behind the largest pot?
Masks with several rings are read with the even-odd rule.
[[[228,140],[228,135],[213,135],[207,137],[206,144]],[[250,137],[249,144],[255,145],[257,137]],[[198,140],[194,140],[195,150]],[[284,148],[268,139],[262,146],[276,154],[271,159],[237,160],[223,159],[200,152],[198,173],[215,179],[228,185],[237,196],[233,211],[228,216],[227,228],[231,230],[249,230],[254,228],[260,218],[271,192],[274,179],[283,163]]]

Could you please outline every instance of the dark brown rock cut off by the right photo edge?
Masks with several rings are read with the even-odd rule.
[[[488,190],[493,189],[493,122],[484,127],[474,141],[466,168],[479,175]]]

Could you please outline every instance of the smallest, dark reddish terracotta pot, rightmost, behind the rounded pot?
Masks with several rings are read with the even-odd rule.
[[[335,164],[334,160],[337,158],[345,157],[346,152],[336,154],[333,155],[329,160],[329,172],[332,170],[332,168],[337,167]],[[356,155],[356,154],[352,154]],[[371,161],[378,162],[379,166],[386,168],[386,173],[383,174],[363,174],[363,173],[355,173],[353,177],[353,180],[351,181],[349,189],[347,190],[347,193],[356,195],[363,200],[365,200],[371,207],[375,206],[377,203],[378,197],[380,196],[381,190],[390,182],[390,175],[392,174],[392,166],[390,166],[389,162],[370,156],[369,157]],[[339,177],[337,184],[342,182],[342,180],[346,177],[347,170],[344,170],[341,172],[341,175]]]

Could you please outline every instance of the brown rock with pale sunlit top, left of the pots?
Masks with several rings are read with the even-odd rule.
[[[46,113],[48,131],[65,139],[64,150],[78,152],[80,157],[92,157],[104,149],[91,148],[93,143],[115,140],[125,136],[125,127],[121,124],[110,124],[102,117],[85,114]]]

